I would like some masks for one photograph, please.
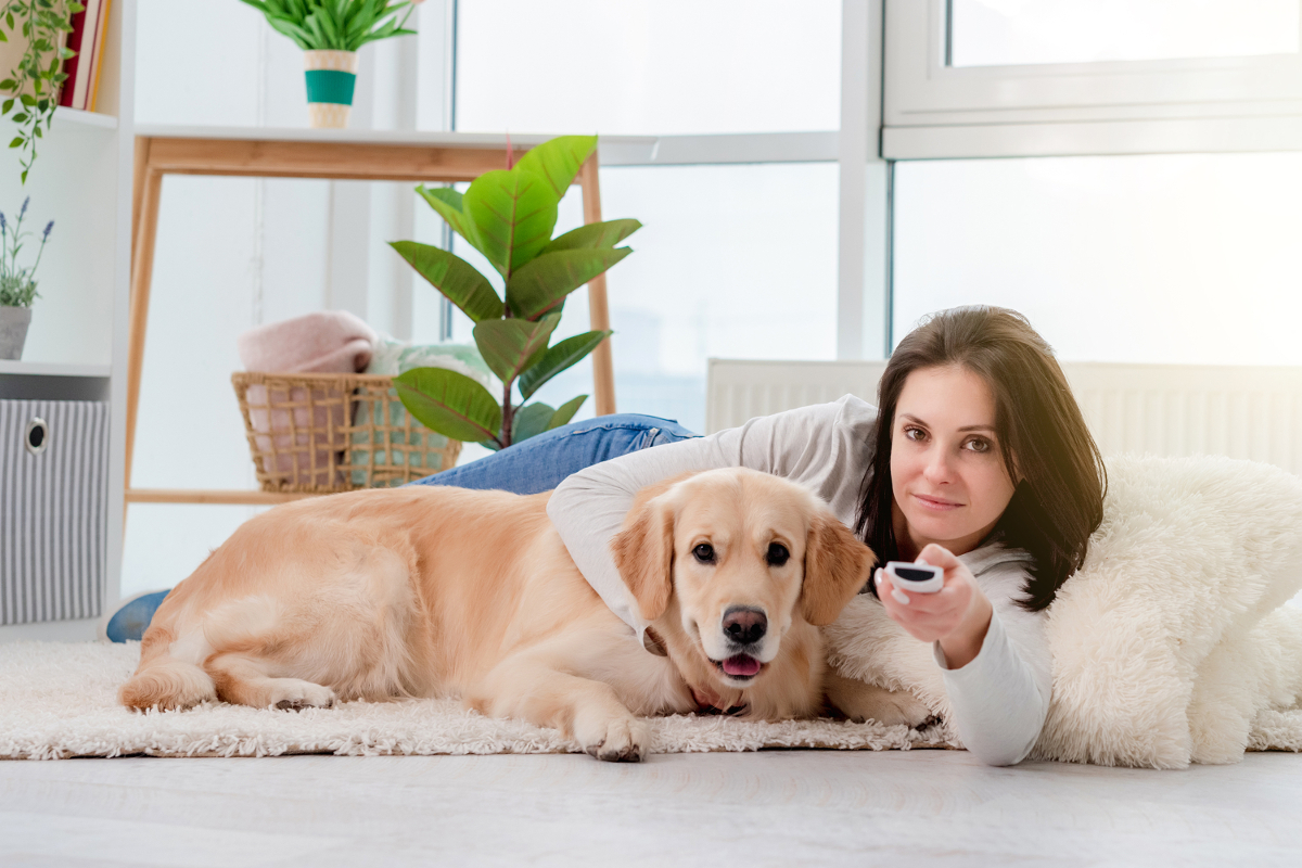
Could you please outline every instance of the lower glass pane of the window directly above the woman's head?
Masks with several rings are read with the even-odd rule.
[[[1026,314],[1073,360],[1302,364],[1302,154],[896,165],[893,338]]]

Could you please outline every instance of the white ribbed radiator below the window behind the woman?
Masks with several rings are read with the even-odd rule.
[[[710,359],[708,432],[855,394],[876,403],[885,362]],[[1229,455],[1302,474],[1302,367],[1062,364],[1104,455]]]

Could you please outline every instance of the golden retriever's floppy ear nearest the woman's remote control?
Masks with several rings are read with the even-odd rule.
[[[805,584],[801,612],[814,626],[836,621],[854,595],[868,582],[878,557],[829,513],[810,523],[805,544]]]

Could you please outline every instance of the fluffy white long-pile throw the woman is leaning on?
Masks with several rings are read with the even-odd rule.
[[[1302,479],[1219,457],[1108,462],[1104,519],[1047,612],[1053,696],[1032,756],[1147,768],[1299,750]],[[871,599],[828,629],[846,675],[949,714],[931,648]]]

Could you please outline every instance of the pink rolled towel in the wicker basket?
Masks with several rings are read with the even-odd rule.
[[[238,350],[247,371],[354,373],[366,370],[379,340],[375,329],[348,311],[320,311],[250,329],[240,336]],[[346,476],[340,470],[331,472],[329,458],[335,453],[337,466],[348,440],[340,431],[350,422],[344,413],[346,396],[339,389],[312,389],[311,407],[307,389],[294,388],[276,397],[276,403],[296,405],[293,413],[272,410],[264,387],[249,387],[245,393],[258,449],[275,457],[263,459],[263,470],[283,485],[340,488]],[[312,449],[311,428],[332,433],[318,435]]]

